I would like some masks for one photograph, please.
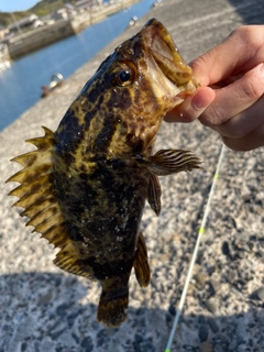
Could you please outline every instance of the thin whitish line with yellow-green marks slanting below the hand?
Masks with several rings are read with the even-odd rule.
[[[206,210],[205,210],[205,213],[204,213],[204,217],[202,217],[200,229],[198,230],[198,237],[197,237],[197,240],[196,240],[196,245],[195,245],[194,254],[193,254],[193,257],[191,257],[191,261],[190,261],[190,265],[189,265],[188,274],[187,274],[187,277],[186,277],[184,290],[183,290],[183,294],[182,294],[182,297],[180,297],[180,300],[179,300],[178,309],[177,309],[177,312],[176,312],[176,316],[175,316],[175,319],[174,319],[174,323],[173,323],[173,327],[172,327],[172,330],[170,330],[170,333],[169,333],[169,338],[168,338],[168,341],[167,341],[167,345],[166,345],[165,352],[172,352],[170,348],[172,348],[172,344],[173,344],[173,339],[174,339],[175,331],[176,331],[177,326],[178,326],[179,317],[180,317],[180,314],[183,311],[185,300],[186,300],[186,295],[187,295],[187,290],[188,290],[189,283],[190,283],[190,279],[191,279],[193,268],[194,268],[194,265],[196,263],[196,258],[197,258],[197,254],[198,254],[201,237],[205,233],[207,218],[208,218],[208,213],[210,211],[210,205],[211,205],[213,191],[215,191],[215,188],[216,188],[217,179],[219,177],[219,172],[220,172],[220,167],[221,167],[221,164],[222,164],[224,151],[226,151],[226,146],[222,145],[221,152],[220,152],[220,156],[219,156],[219,160],[218,160],[217,169],[216,169],[216,173],[213,175],[211,189],[210,189],[210,193],[209,193],[209,196],[208,196]]]

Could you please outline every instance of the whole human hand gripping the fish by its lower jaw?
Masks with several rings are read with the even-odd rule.
[[[195,119],[216,130],[237,151],[264,145],[264,25],[238,28],[190,66],[201,84],[165,118]]]

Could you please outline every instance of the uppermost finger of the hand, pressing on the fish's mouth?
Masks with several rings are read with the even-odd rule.
[[[190,63],[194,76],[201,86],[209,86],[233,73],[249,70],[263,63],[263,25],[248,25],[234,30],[222,43]]]

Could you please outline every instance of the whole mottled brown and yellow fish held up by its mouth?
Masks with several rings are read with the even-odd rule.
[[[30,139],[35,150],[15,156],[26,226],[59,249],[59,268],[100,283],[97,320],[119,327],[128,316],[129,280],[151,279],[141,219],[147,201],[161,212],[160,176],[193,170],[185,150],[154,151],[167,111],[199,84],[167,29],[156,19],[119,45],[67,109],[55,132]]]

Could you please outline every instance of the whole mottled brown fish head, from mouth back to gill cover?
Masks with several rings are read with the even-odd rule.
[[[61,130],[67,129],[67,136],[73,138],[78,132],[92,155],[144,153],[153,145],[165,113],[198,86],[168,31],[152,19],[102,62],[73,102]],[[65,127],[73,117],[78,120],[77,131],[73,122]],[[58,140],[63,143],[64,139],[58,135]],[[73,143],[67,140],[66,144]]]

